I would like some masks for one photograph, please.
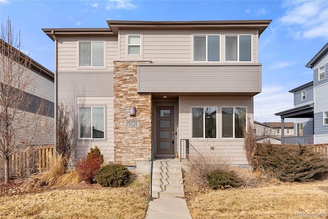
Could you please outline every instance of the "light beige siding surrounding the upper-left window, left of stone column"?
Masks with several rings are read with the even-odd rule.
[[[105,67],[90,67],[79,68],[78,67],[78,42],[80,41],[104,41],[105,42]],[[57,41],[57,53],[58,53],[58,71],[89,71],[89,70],[105,70],[113,71],[113,60],[118,57],[118,43],[117,36],[109,37],[58,37]]]

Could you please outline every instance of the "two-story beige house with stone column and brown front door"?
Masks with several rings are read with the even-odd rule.
[[[259,36],[271,21],[107,21],[43,29],[55,43],[56,105],[71,110],[76,157],[98,146],[135,166],[180,144],[247,165],[243,130],[261,92]],[[101,134],[104,133],[104,134]]]

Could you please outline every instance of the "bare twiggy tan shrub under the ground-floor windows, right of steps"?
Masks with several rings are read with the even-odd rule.
[[[193,149],[190,156],[190,173],[194,182],[204,186],[208,184],[207,176],[217,170],[228,170],[231,165],[230,157],[223,156],[219,149]]]

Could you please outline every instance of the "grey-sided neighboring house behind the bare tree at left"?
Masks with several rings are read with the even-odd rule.
[[[9,48],[13,52],[19,52],[16,48],[13,48],[11,45],[0,39],[0,47],[3,48]],[[2,54],[2,51],[7,51],[6,49],[0,49],[0,56],[4,57]],[[24,58],[27,57],[24,53],[19,52],[20,57]],[[5,54],[6,55],[6,54]],[[11,56],[9,56],[11,57]],[[37,145],[53,145],[54,144],[54,135],[53,135],[53,127],[54,127],[54,73],[45,68],[44,66],[40,65],[39,63],[35,62],[33,59],[30,59],[30,64],[25,64],[26,66],[23,66],[23,68],[26,69],[26,74],[24,74],[26,77],[29,77],[29,86],[25,86],[24,95],[32,97],[31,103],[28,106],[28,109],[24,109],[27,112],[35,113],[38,109],[39,104],[44,101],[44,110],[42,112],[43,116],[40,117],[41,121],[34,121],[35,123],[43,123],[46,121],[47,118],[47,127],[49,127],[49,130],[43,130],[42,133],[40,133],[40,136],[36,135],[33,139],[33,143],[28,142],[27,144],[37,144]],[[18,65],[22,66],[22,62],[13,62],[8,64],[7,61],[0,64],[0,69],[10,69],[8,67],[4,67],[3,65],[12,65],[13,69],[17,68],[19,69]],[[22,67],[20,67],[22,69]],[[18,70],[19,71],[19,70]],[[22,71],[22,70],[20,70]],[[15,73],[15,72],[14,72]],[[6,74],[6,73],[4,73]],[[23,73],[21,73],[23,75]],[[3,75],[3,74],[2,74]],[[16,72],[17,75],[17,72]],[[6,83],[2,81],[3,78],[0,78],[0,83]],[[17,85],[18,86],[18,85]],[[23,87],[24,85],[20,84],[20,87]],[[23,105],[24,106],[24,105]],[[18,113],[17,117],[18,118]],[[28,119],[26,118],[27,121]],[[34,123],[33,123],[34,124]],[[20,124],[21,125],[21,124]],[[30,123],[28,124],[30,125]],[[19,126],[18,126],[19,127]],[[25,128],[24,126],[21,126],[22,129]],[[21,130],[17,130],[15,133],[15,136],[22,135],[22,138],[24,139],[24,133],[20,133]],[[33,133],[34,134],[34,133]],[[28,137],[26,137],[28,138]],[[15,138],[17,141],[18,138]]]

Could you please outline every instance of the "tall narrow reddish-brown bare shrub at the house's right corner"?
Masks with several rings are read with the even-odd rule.
[[[256,168],[256,153],[257,153],[257,144],[256,144],[256,135],[254,134],[254,126],[251,121],[248,121],[247,128],[244,130],[244,152],[247,158],[247,162],[251,167],[251,171]]]

